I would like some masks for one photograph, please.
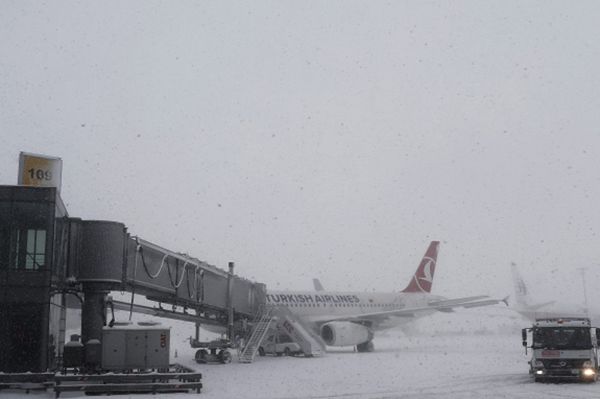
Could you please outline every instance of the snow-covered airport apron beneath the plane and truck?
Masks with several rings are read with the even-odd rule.
[[[504,311],[500,311],[504,312]],[[509,313],[440,314],[415,323],[410,335],[375,337],[375,352],[334,350],[321,358],[257,357],[252,364],[198,365],[186,338],[193,327],[172,323],[174,361],[203,373],[203,398],[593,398],[597,384],[535,384],[519,328]],[[481,326],[479,329],[475,326]],[[177,352],[177,358],[175,358]],[[53,393],[0,391],[2,398],[51,398]],[[184,399],[195,394],[161,395]],[[82,397],[68,393],[65,398]],[[125,395],[133,399],[152,395]]]

